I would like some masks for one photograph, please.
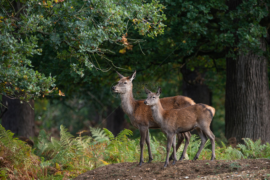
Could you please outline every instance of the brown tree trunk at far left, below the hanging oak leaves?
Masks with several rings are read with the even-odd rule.
[[[16,136],[26,138],[33,137],[35,134],[35,112],[34,100],[31,99],[29,104],[20,103],[18,99],[11,99],[6,96],[2,97],[3,104],[8,103],[8,110],[3,114],[2,126],[10,130]]]

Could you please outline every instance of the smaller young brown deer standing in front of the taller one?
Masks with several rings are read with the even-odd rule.
[[[198,159],[208,136],[212,144],[211,161],[213,161],[215,159],[215,136],[210,130],[210,123],[215,114],[215,109],[206,104],[194,104],[183,109],[163,109],[163,105],[160,103],[161,99],[159,99],[161,87],[158,88],[157,93],[152,93],[145,87],[144,89],[147,94],[144,104],[151,107],[154,121],[159,124],[161,131],[167,135],[167,156],[164,167],[168,166],[171,146],[173,147],[172,164],[176,163],[175,141],[173,140],[175,134],[185,133],[193,129],[198,131],[202,140],[193,160]]]

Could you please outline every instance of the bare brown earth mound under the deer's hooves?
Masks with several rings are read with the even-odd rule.
[[[165,179],[254,179],[270,180],[270,159],[197,160],[109,164],[85,172],[73,180],[165,180]]]

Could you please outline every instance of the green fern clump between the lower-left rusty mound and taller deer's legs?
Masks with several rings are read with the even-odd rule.
[[[74,177],[102,165],[134,161],[138,157],[134,141],[127,138],[132,135],[130,130],[122,130],[116,137],[107,129],[90,128],[92,137],[82,136],[84,132],[77,133],[75,138],[61,125],[60,140],[51,137],[48,142],[48,135],[41,131],[36,148],[47,159],[41,167],[50,169],[54,176]]]

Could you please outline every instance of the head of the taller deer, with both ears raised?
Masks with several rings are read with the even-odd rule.
[[[120,80],[116,84],[116,86],[113,86],[111,89],[113,92],[124,94],[127,92],[132,92],[132,80],[136,76],[136,70],[130,75],[129,77],[124,77],[122,74],[116,71],[118,74],[118,77]]]

